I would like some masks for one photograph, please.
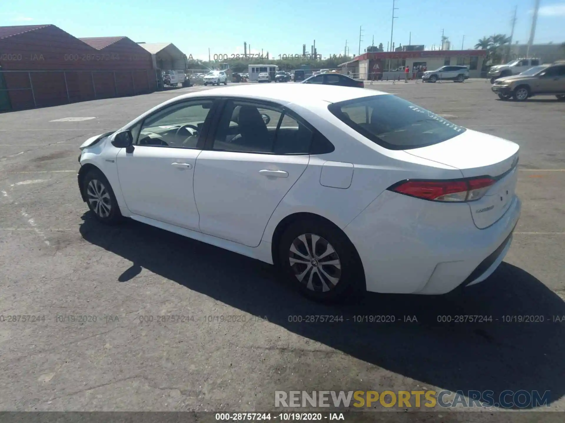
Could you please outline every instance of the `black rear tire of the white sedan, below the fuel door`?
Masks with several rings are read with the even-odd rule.
[[[319,237],[315,250],[312,248],[312,235]],[[302,239],[306,240],[306,244]],[[333,252],[324,257],[324,253],[329,250],[328,245]],[[291,248],[300,254],[294,253]],[[313,254],[309,253],[312,251]],[[278,256],[275,258],[275,265],[280,270],[280,275],[305,297],[314,301],[336,303],[365,289],[363,266],[355,247],[345,233],[327,222],[309,218],[291,223],[280,237]],[[291,260],[303,257],[310,258],[291,265]],[[324,265],[325,262],[338,265]],[[299,275],[302,276],[302,281]],[[337,282],[333,284],[328,276],[337,279]],[[328,290],[324,291],[325,288]]]

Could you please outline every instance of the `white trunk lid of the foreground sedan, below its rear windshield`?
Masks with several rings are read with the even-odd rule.
[[[489,176],[496,179],[481,199],[468,203],[473,222],[483,229],[496,223],[512,203],[518,178],[519,148],[511,141],[467,129],[442,143],[405,151],[453,166],[464,178]]]

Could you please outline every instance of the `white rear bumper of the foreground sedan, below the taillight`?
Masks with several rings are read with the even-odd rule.
[[[445,207],[386,191],[344,231],[357,248],[368,291],[445,294],[496,270],[520,210],[514,196],[502,218],[480,230],[466,203]]]

